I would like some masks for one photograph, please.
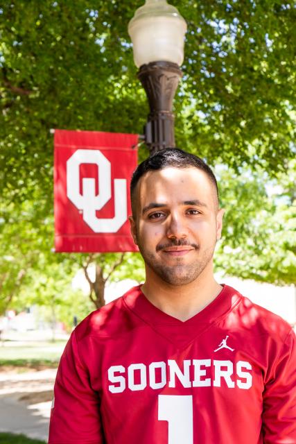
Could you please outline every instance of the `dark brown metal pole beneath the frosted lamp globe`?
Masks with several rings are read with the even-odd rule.
[[[144,127],[150,154],[163,148],[175,148],[173,99],[182,78],[180,67],[171,62],[151,62],[140,67],[138,78],[146,91],[150,107]]]

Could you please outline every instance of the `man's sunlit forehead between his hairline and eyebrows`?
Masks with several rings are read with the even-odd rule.
[[[201,200],[216,205],[216,189],[209,176],[195,167],[166,167],[148,171],[137,186],[137,200],[143,208],[150,202],[170,203],[174,200]]]

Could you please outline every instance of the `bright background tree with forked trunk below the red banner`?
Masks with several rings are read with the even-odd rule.
[[[41,221],[40,202],[10,203],[0,220],[0,315],[8,307],[24,308],[31,303],[54,309],[69,303],[71,280],[82,268],[89,283],[89,300],[104,305],[106,283],[120,278],[143,279],[143,264],[132,253],[55,254],[52,250],[53,220]],[[117,268],[121,266],[121,271]],[[90,268],[95,268],[94,279]],[[61,294],[64,298],[62,303]],[[50,297],[50,295],[52,297]],[[76,310],[77,311],[77,310]],[[71,316],[70,316],[71,318]],[[69,316],[64,317],[69,324]]]

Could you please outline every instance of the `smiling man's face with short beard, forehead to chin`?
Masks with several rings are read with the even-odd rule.
[[[184,285],[212,273],[223,210],[206,173],[195,167],[149,171],[134,192],[137,214],[130,222],[146,277]]]

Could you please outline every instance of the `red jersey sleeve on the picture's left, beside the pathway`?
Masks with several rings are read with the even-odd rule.
[[[98,393],[89,384],[74,330],[55,379],[49,444],[103,444],[99,407]]]

